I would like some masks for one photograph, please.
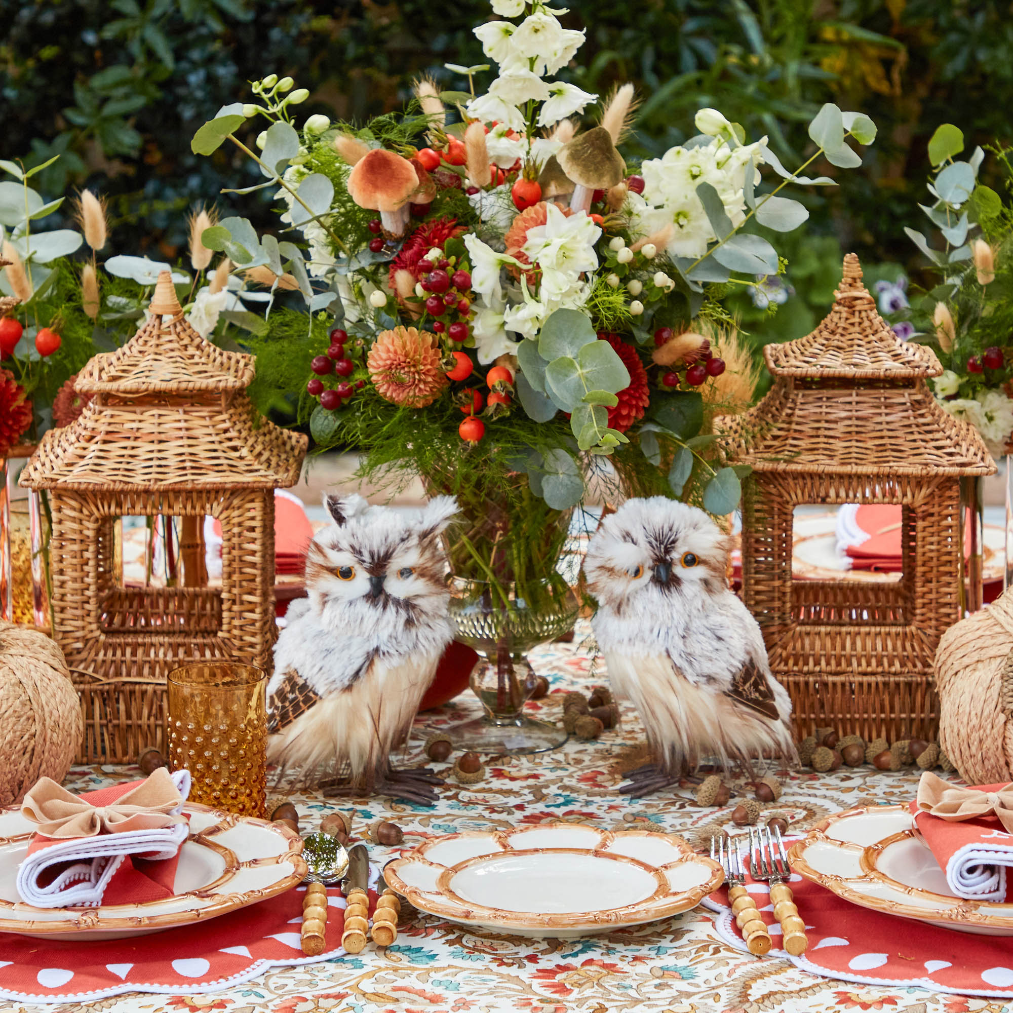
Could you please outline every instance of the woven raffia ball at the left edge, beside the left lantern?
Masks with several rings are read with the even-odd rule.
[[[0,805],[41,778],[62,781],[84,722],[60,648],[35,630],[0,622]]]

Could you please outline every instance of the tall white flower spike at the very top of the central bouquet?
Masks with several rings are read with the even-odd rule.
[[[527,0],[492,0],[492,10],[500,17],[520,17],[527,7]],[[482,52],[499,65],[499,75],[484,95],[468,102],[467,112],[497,125],[487,143],[489,154],[502,168],[524,158],[529,144],[531,155],[540,161],[553,154],[559,145],[534,138],[533,129],[552,127],[598,98],[575,84],[545,80],[566,66],[583,45],[582,31],[559,23],[557,15],[564,13],[533,0],[531,12],[520,24],[488,21],[475,28]],[[529,102],[540,103],[533,122],[523,109]]]

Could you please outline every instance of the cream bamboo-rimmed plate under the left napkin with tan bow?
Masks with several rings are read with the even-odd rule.
[[[186,803],[190,833],[175,895],[147,904],[33,908],[18,899],[17,866],[35,825],[19,806],[0,809],[0,932],[41,938],[123,939],[207,921],[291,889],[306,875],[302,841],[281,824]]]

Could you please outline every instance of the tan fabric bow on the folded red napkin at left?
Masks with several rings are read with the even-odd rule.
[[[183,823],[185,816],[172,813],[182,802],[169,772],[160,767],[111,805],[92,805],[43,777],[24,796],[21,812],[38,824],[37,833],[44,837],[96,837]]]

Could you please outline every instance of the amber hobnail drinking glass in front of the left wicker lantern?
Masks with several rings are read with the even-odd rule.
[[[264,816],[267,677],[252,665],[184,665],[168,676],[169,766],[189,770],[189,800]]]

